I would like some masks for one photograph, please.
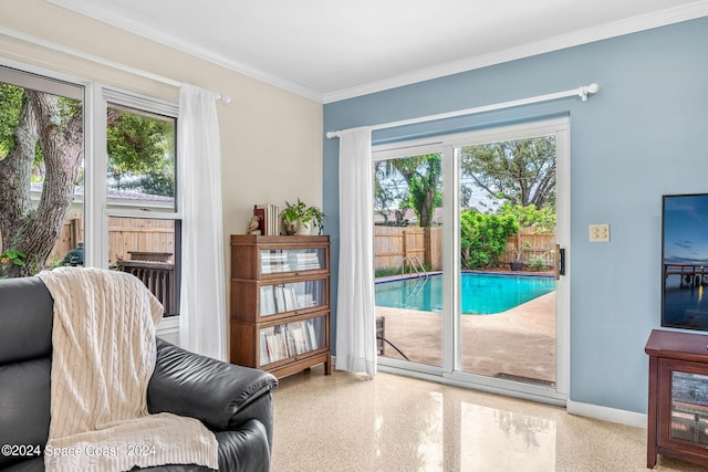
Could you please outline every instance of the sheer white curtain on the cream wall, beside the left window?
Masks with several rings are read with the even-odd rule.
[[[226,285],[221,212],[221,145],[216,99],[183,85],[178,159],[183,187],[180,345],[226,360]]]

